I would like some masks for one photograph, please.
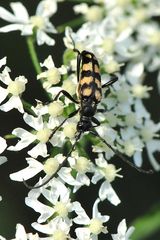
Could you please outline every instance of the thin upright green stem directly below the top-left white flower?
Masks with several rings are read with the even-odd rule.
[[[32,59],[33,66],[36,70],[36,73],[39,74],[41,73],[41,67],[39,64],[38,56],[37,56],[35,45],[34,45],[34,39],[32,36],[27,37],[27,45],[28,45],[29,54]]]

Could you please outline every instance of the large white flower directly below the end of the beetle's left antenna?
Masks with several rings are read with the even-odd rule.
[[[74,210],[75,204],[75,202],[71,202],[70,190],[56,178],[50,181],[49,186],[49,189],[44,187],[31,190],[25,199],[26,205],[40,213],[38,223],[48,221],[53,215],[55,215],[55,218],[63,219],[66,222],[69,221],[69,214]],[[49,201],[49,206],[38,200],[40,194]]]

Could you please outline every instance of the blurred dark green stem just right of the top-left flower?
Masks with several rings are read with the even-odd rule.
[[[81,16],[79,18],[73,19],[71,21],[68,21],[60,26],[57,26],[57,31],[59,33],[63,33],[65,31],[65,28],[67,26],[70,26],[71,28],[78,27],[84,23],[84,18]]]

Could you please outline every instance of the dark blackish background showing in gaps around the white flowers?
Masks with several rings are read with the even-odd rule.
[[[1,6],[9,8],[11,1],[1,1]],[[13,2],[13,1],[12,1]],[[21,1],[30,15],[34,15],[37,2],[39,1]],[[67,1],[66,1],[67,2]],[[74,18],[72,11],[72,4],[60,3],[58,14],[52,18],[54,25],[59,26],[72,18]],[[0,26],[7,23],[2,21]],[[40,61],[42,62],[49,54],[53,56],[56,66],[61,65],[61,59],[64,51],[62,40],[63,34],[55,35],[56,45],[54,47],[41,46],[37,47],[37,52]],[[28,79],[28,87],[24,94],[24,99],[29,100],[35,104],[34,99],[46,101],[41,87],[36,81],[36,74],[30,57],[27,51],[26,40],[20,36],[19,32],[10,32],[8,34],[0,33],[0,58],[8,56],[7,66],[12,70],[11,77],[14,79],[19,75],[24,75]],[[150,74],[147,83],[155,78],[154,74]],[[153,81],[152,81],[153,82]],[[155,82],[155,81],[154,81]],[[152,97],[146,100],[147,108],[152,113],[153,119],[159,121],[158,104],[159,96],[156,92],[156,82],[154,83],[155,90]],[[15,127],[25,126],[22,121],[22,115],[18,111],[12,110],[8,113],[0,112],[0,135],[10,133]],[[26,232],[34,232],[31,223],[36,221],[37,214],[25,206],[24,198],[27,196],[28,189],[22,183],[17,183],[9,179],[9,174],[18,171],[26,166],[25,157],[26,150],[19,152],[7,152],[8,162],[0,166],[0,195],[3,197],[0,202],[0,234],[7,239],[13,238],[15,234],[16,223],[21,223],[25,226]],[[157,157],[159,157],[157,155]],[[146,158],[146,157],[145,157]],[[122,203],[115,207],[105,201],[100,205],[103,214],[111,216],[107,226],[110,232],[116,233],[119,222],[126,218],[127,224],[130,225],[134,219],[144,215],[152,209],[152,206],[159,203],[160,200],[160,174],[145,175],[137,172],[135,169],[127,166],[118,158],[115,158],[117,168],[122,167],[123,179],[117,179],[113,183],[113,187],[120,197]],[[145,161],[147,162],[147,160]],[[149,163],[144,168],[150,168]],[[82,206],[88,209],[91,215],[92,205],[96,199],[97,186],[92,189],[84,187],[77,194],[77,200],[80,200]],[[106,238],[105,238],[106,239]],[[110,239],[108,237],[108,239]],[[145,238],[145,240],[160,239],[160,231],[154,235]],[[137,239],[139,240],[139,239]]]

